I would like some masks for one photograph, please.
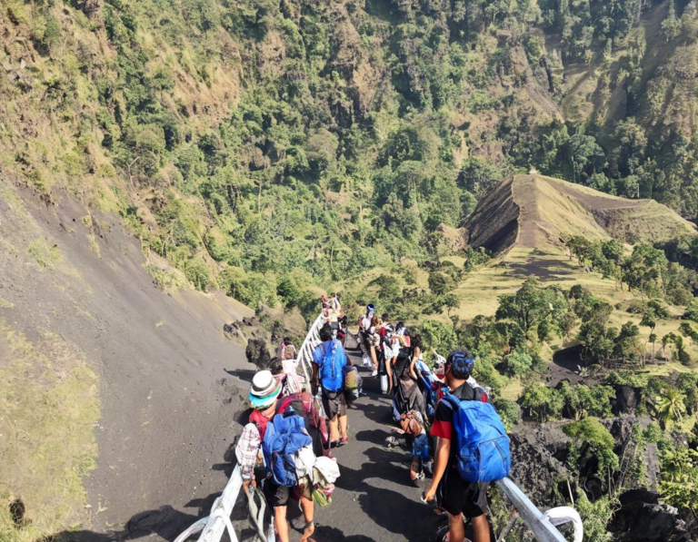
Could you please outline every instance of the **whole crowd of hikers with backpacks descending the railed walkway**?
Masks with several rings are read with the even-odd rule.
[[[244,491],[260,491],[257,481],[263,481],[278,542],[290,540],[286,510],[291,498],[303,510],[301,542],[313,540],[314,505],[331,502],[339,477],[332,450],[349,439],[347,400],[361,389],[358,371],[344,350],[349,331],[334,294],[323,298],[323,315],[311,381],[299,377],[291,357],[297,352],[284,339],[269,370],[254,374],[252,413],[235,448]],[[386,444],[406,440],[415,483],[431,475],[423,500],[448,516],[449,542],[466,540],[464,518],[471,521],[474,542],[489,541],[487,486],[508,473],[508,439],[486,391],[472,377],[472,356],[454,350],[444,359],[434,350],[436,366],[430,368],[420,336],[403,322],[391,322],[388,314],[376,318],[369,304],[358,323],[363,366],[374,377],[380,374],[383,391],[393,395],[396,437]]]

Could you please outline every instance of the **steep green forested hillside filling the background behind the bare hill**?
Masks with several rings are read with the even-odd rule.
[[[5,177],[252,306],[448,252],[516,170],[698,215],[694,1],[6,0],[0,30]]]

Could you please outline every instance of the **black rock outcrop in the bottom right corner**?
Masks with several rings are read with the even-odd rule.
[[[659,495],[632,489],[621,497],[611,531],[619,542],[689,542],[692,537],[676,508],[659,502]]]

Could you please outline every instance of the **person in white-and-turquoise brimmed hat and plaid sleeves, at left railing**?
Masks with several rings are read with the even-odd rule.
[[[288,441],[294,447],[286,445],[284,451],[293,453],[297,449],[313,447],[313,439],[308,434],[307,429],[302,425],[303,420],[297,420],[298,417],[284,416],[283,413],[277,412],[279,405],[279,397],[281,395],[282,384],[278,379],[274,378],[271,371],[261,370],[254,375],[252,379],[252,387],[249,392],[249,399],[252,403],[252,414],[250,414],[250,422],[244,426],[243,434],[238,440],[235,447],[235,457],[240,466],[240,473],[243,478],[243,489],[248,493],[250,488],[256,488],[257,482],[254,474],[254,468],[263,464],[267,471],[267,477],[264,479],[264,498],[270,507],[274,508],[274,530],[276,531],[277,540],[279,542],[290,542],[288,521],[286,520],[286,508],[288,499],[291,497],[292,491],[294,496],[301,502],[303,515],[305,518],[305,526],[301,542],[310,542],[310,538],[314,533],[314,501],[312,496],[308,497],[307,488],[293,487],[290,485],[276,483],[280,475],[286,474],[284,466],[287,463],[283,460],[275,461],[274,454],[271,453],[269,447],[274,436],[274,432],[279,431],[284,427],[290,427],[288,432]],[[309,396],[309,394],[306,394]],[[287,398],[288,400],[291,398]],[[311,398],[312,399],[312,398]],[[278,418],[277,421],[275,418]],[[270,429],[270,424],[274,429]],[[286,426],[287,424],[287,426]],[[278,427],[277,427],[278,426]],[[278,435],[278,433],[277,433]],[[297,448],[297,449],[295,449]],[[293,463],[293,461],[292,461]],[[281,468],[283,472],[279,473]],[[287,474],[289,483],[295,481],[295,473]]]

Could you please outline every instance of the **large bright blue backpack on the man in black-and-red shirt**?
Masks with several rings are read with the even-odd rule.
[[[444,395],[454,409],[456,468],[466,482],[494,482],[512,467],[509,437],[492,403]]]

